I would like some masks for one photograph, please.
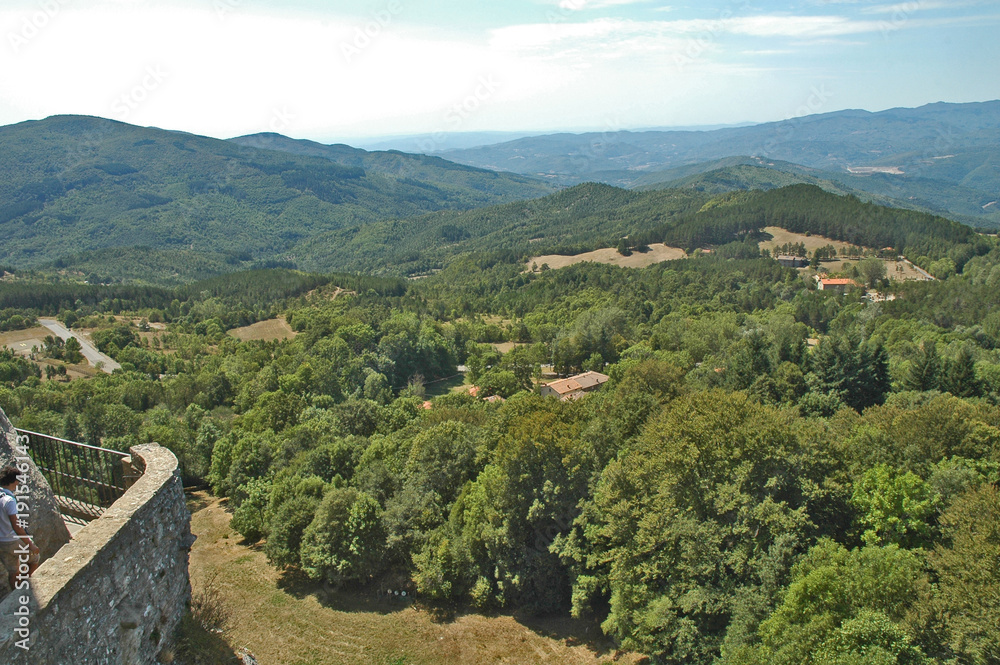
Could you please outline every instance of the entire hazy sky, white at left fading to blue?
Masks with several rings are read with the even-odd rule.
[[[4,0],[0,124],[349,142],[984,101],[998,29],[1000,0]]]

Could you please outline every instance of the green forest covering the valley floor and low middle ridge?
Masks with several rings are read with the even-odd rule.
[[[58,316],[123,369],[43,380],[2,352],[0,407],[24,429],[169,447],[275,567],[338,588],[588,618],[655,663],[1000,660],[995,238],[807,185],[583,185],[399,224],[392,251],[416,252],[417,227],[467,244],[428,245],[420,280],[15,271],[0,329]],[[714,251],[525,272],[533,224],[553,246]],[[885,302],[818,291],[757,249],[770,225],[940,278],[885,282]],[[228,334],[279,315],[292,339]],[[477,396],[453,389],[460,365]],[[610,381],[540,394],[586,370]]]

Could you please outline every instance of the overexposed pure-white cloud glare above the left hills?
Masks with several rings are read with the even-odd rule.
[[[222,137],[275,126],[357,135],[391,123],[441,125],[491,80],[489,98],[475,103],[486,123],[491,107],[562,77],[473,40],[391,22],[372,35],[365,24],[240,9],[220,20],[212,7],[67,5],[27,37],[22,12],[0,11],[3,106],[17,119],[81,113]]]

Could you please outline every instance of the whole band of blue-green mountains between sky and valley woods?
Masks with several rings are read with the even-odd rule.
[[[556,134],[448,155],[464,163],[84,116],[0,127],[0,267],[156,283],[275,265],[414,275],[462,252],[652,238],[696,226],[712,197],[790,185],[813,186],[796,190],[796,209],[829,207],[816,194],[826,190],[1000,227],[1000,102]],[[587,181],[603,184],[559,191]]]

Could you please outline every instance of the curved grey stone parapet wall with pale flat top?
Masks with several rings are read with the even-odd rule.
[[[191,598],[191,514],[173,453],[131,453],[142,477],[0,602],[0,663],[146,665],[172,647]]]

